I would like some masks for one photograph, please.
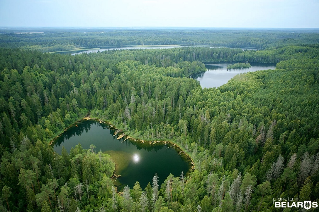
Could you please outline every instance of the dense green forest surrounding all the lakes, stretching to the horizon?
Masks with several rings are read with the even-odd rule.
[[[299,211],[275,208],[273,198],[319,202],[318,33],[52,34],[0,35],[0,211]],[[162,44],[264,50],[43,53]],[[207,61],[277,65],[202,89],[189,75]],[[81,145],[60,155],[49,145],[87,114],[133,138],[173,142],[195,170],[117,191],[109,155]]]

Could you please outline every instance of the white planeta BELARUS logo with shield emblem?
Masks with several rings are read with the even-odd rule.
[[[294,201],[292,197],[277,197],[273,198],[273,204],[275,208],[305,208],[309,210],[310,208],[317,208],[318,202],[312,201],[303,201],[298,202]]]

